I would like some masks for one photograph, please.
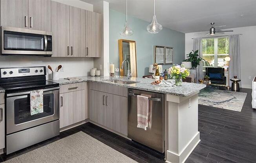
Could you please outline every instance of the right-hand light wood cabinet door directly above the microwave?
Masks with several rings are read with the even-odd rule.
[[[28,13],[29,29],[51,31],[51,0],[28,0]]]

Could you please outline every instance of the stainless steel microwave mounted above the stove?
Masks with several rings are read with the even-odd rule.
[[[51,56],[52,44],[51,32],[1,26],[2,55]]]

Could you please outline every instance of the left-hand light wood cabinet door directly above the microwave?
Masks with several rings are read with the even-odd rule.
[[[28,28],[28,0],[1,0],[1,25]]]

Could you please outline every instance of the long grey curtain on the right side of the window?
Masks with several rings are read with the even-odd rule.
[[[230,79],[237,76],[241,79],[241,58],[240,58],[240,34],[229,36],[229,85],[231,86]]]

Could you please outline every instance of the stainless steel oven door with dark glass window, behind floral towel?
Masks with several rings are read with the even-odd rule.
[[[6,95],[6,134],[59,120],[59,87],[44,89],[44,112],[31,115],[30,91]]]

